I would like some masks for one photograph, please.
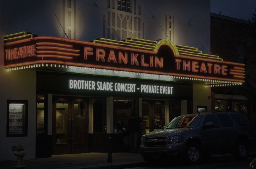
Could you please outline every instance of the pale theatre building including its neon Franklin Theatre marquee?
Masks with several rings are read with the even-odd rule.
[[[210,54],[209,14],[209,0],[1,1],[0,160],[20,142],[25,159],[106,152],[108,137],[128,151],[132,112],[150,132],[212,110],[211,86],[241,85],[245,65]]]

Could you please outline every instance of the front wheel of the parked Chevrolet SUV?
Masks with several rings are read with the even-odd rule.
[[[201,161],[201,148],[196,143],[189,143],[186,149],[186,160],[189,164],[198,164]]]

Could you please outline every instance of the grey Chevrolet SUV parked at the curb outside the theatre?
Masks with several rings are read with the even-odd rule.
[[[147,162],[184,157],[189,164],[199,163],[212,154],[232,153],[247,159],[255,145],[252,126],[237,112],[211,112],[181,115],[163,130],[142,136],[140,152]]]

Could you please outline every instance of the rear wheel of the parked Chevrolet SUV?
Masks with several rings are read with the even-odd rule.
[[[235,146],[234,157],[237,160],[246,160],[248,157],[248,144],[245,140],[238,140]]]

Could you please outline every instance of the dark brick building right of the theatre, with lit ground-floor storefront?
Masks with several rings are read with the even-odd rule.
[[[255,88],[256,70],[255,58],[256,39],[252,36],[252,26],[249,21],[236,19],[220,14],[211,13],[211,53],[218,55],[225,61],[245,64],[246,83]],[[244,113],[251,121],[256,131],[255,103],[243,96],[246,85],[233,87],[212,87],[212,95],[215,100],[212,108],[220,104],[223,110],[239,111]],[[254,91],[251,89],[251,91]]]

